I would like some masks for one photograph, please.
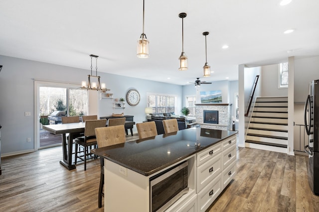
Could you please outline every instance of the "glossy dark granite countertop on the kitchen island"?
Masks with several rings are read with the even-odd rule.
[[[97,148],[91,152],[149,176],[236,133],[237,131],[193,127]]]

